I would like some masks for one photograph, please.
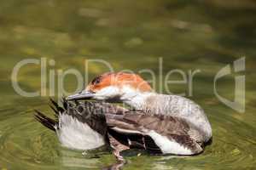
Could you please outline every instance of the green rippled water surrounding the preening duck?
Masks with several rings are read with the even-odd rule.
[[[85,75],[84,59],[104,59],[114,71],[151,69],[159,92],[160,57],[164,75],[172,69],[201,70],[189,98],[207,112],[212,145],[191,157],[124,153],[124,169],[255,169],[255,23],[253,0],[0,1],[0,169],[101,169],[115,162],[108,151],[82,156],[61,147],[55,133],[33,119],[34,109],[50,115],[49,86],[47,96],[22,97],[12,87],[11,73],[21,59],[42,57],[55,60],[48,73],[76,68]],[[238,75],[246,75],[246,111],[239,113],[218,100],[213,79],[242,56],[246,71]],[[89,76],[104,71],[92,65]],[[234,98],[234,76],[218,81],[218,92],[227,99]],[[40,90],[39,65],[22,67],[18,82],[26,91]],[[72,75],[63,83],[68,93],[77,86]],[[169,88],[188,94],[186,85]]]

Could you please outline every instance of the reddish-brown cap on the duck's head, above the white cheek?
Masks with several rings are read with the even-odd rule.
[[[102,88],[115,86],[122,88],[124,86],[130,86],[142,92],[150,92],[152,88],[148,82],[144,81],[142,77],[137,74],[118,72],[118,73],[105,73],[94,78],[87,86],[87,90],[96,92]]]

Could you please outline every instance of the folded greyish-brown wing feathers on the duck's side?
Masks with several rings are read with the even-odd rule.
[[[148,136],[147,131],[153,130],[166,136],[178,144],[193,150],[195,153],[201,151],[199,145],[189,136],[191,127],[183,119],[175,116],[137,114],[136,111],[126,112],[125,115],[106,115],[108,127],[115,131],[115,135],[125,135],[130,145],[143,145],[144,149],[154,153],[160,152],[160,148],[154,140]],[[137,138],[131,139],[129,135],[136,135]],[[123,143],[125,144],[125,143]],[[135,145],[135,146],[137,146]]]

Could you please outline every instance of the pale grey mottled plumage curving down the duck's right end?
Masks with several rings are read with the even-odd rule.
[[[150,102],[152,100],[152,102]],[[153,102],[154,101],[154,102]],[[190,99],[177,95],[158,94],[148,98],[145,111],[153,114],[177,116],[197,128],[202,135],[203,142],[212,138],[212,127],[200,105]]]

